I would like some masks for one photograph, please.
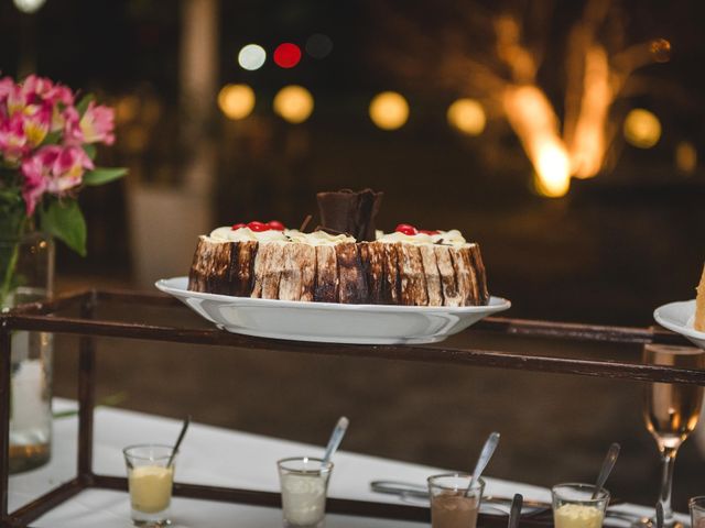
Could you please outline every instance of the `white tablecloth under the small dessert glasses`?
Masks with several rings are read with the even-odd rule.
[[[57,400],[55,410],[72,403]],[[181,424],[177,420],[133,411],[99,408],[96,410],[94,465],[96,473],[126,474],[121,449],[133,443],[173,443]],[[351,427],[355,427],[352,424]],[[55,420],[54,454],[46,466],[10,479],[10,508],[14,509],[37,495],[72,479],[76,468],[77,418]],[[322,439],[324,441],[325,439]],[[176,480],[194,484],[279,491],[275,461],[285,457],[319,457],[323,448],[193,424],[176,462]],[[328,495],[376,502],[398,502],[395,496],[369,491],[373,480],[424,484],[429,475],[445,470],[339,451]],[[511,497],[550,501],[549,490],[488,477],[486,493]],[[650,515],[652,509],[621,505],[619,509]],[[177,497],[172,503],[176,527],[252,527],[281,526],[276,508],[245,506]],[[684,517],[681,517],[685,520]],[[90,490],[44,515],[36,527],[46,528],[127,528],[131,526],[128,496],[124,493]],[[417,522],[390,521],[364,517],[328,515],[328,528],[412,528]]]

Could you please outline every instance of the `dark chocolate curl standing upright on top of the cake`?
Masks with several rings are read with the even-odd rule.
[[[375,217],[382,202],[383,193],[350,189],[318,193],[321,224],[340,233],[350,233],[358,242],[375,241]]]

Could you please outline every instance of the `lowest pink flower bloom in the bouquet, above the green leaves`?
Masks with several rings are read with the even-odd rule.
[[[93,162],[78,146],[47,145],[22,162],[24,183],[22,197],[28,216],[34,212],[44,193],[64,195],[80,185]]]

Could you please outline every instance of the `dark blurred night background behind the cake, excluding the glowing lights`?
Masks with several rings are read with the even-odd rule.
[[[693,297],[705,261],[705,169],[697,157],[679,162],[676,152],[687,144],[703,155],[705,144],[702,2],[611,2],[599,34],[608,52],[665,38],[670,59],[634,73],[610,109],[614,139],[604,168],[594,178],[573,179],[560,198],[534,190],[529,158],[491,106],[478,136],[448,125],[451,102],[462,96],[482,100],[482,94],[464,82],[473,72],[441,66],[449,54],[492,64],[488,21],[512,13],[542,57],[536,81],[561,117],[565,41],[584,2],[213,2],[218,10],[210,57],[216,86],[212,98],[196,105],[205,109],[194,121],[200,127],[196,147],[183,132],[194,120],[180,63],[187,3],[47,0],[36,13],[24,14],[11,1],[0,2],[0,72],[35,70],[116,106],[118,140],[100,156],[106,165],[130,168],[119,184],[83,193],[89,255],[80,260],[59,250],[57,289],[150,288],[155,278],[186,273],[195,240],[183,233],[196,218],[205,219],[203,230],[256,218],[295,227],[315,212],[317,190],[372,187],[384,191],[379,228],[391,230],[400,222],[457,228],[479,242],[490,289],[512,300],[511,317],[649,326],[655,307]],[[291,69],[271,62],[279,43],[303,47],[313,33],[330,37],[329,56],[314,59],[304,53]],[[268,61],[246,72],[237,54],[253,42],[268,51]],[[252,87],[251,116],[234,121],[219,111],[216,96],[226,84]],[[302,124],[272,111],[276,91],[291,84],[306,87],[315,100]],[[400,130],[380,130],[368,116],[370,99],[383,90],[409,101],[409,122]],[[661,122],[652,148],[637,148],[622,136],[632,108],[648,109]],[[212,153],[213,170],[189,179],[200,147]],[[162,223],[156,210],[140,209],[145,189],[177,195],[164,211],[171,223]],[[191,197],[202,199],[194,206]],[[143,230],[149,237],[161,233],[151,246],[154,253],[186,248],[172,258],[175,271],[140,250]],[[187,315],[172,317],[198,324]],[[640,353],[637,348],[494,341],[479,332],[457,340],[525,353],[634,360]],[[490,474],[542,485],[594,479],[609,442],[620,441],[614,493],[644,504],[655,501],[659,463],[643,428],[637,383],[252,351],[195,353],[171,345],[123,350],[121,344],[105,343],[100,391],[127,391],[123,405],[130,408],[181,416],[193,406],[199,421],[311,442],[321,441],[345,413],[355,425],[347,449],[454,468],[467,466],[487,432],[498,429],[503,443]],[[65,353],[57,354],[56,391],[72,396],[75,343],[66,339],[59,348]],[[150,369],[166,378],[145,383]],[[285,397],[279,400],[286,403],[272,407],[268,394],[273,391],[281,391]],[[311,413],[302,417],[304,409]],[[688,496],[705,493],[696,442],[685,443],[682,458],[675,470],[679,509],[686,508]]]

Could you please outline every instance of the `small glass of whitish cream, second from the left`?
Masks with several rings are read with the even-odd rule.
[[[282,488],[284,526],[322,528],[325,524],[328,479],[333,463],[294,457],[276,462]]]

